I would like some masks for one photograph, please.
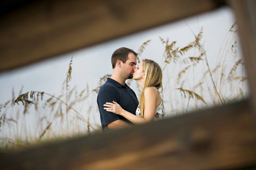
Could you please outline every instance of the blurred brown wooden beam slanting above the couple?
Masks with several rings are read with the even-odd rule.
[[[223,2],[27,1],[0,17],[0,72],[210,11]]]

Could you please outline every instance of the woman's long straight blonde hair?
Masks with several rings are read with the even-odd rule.
[[[145,83],[140,94],[140,115],[144,117],[145,110],[145,97],[144,92],[147,87],[156,87],[157,89],[161,88],[163,91],[162,79],[163,73],[161,67],[154,62],[153,60],[144,59],[143,68],[145,73]]]

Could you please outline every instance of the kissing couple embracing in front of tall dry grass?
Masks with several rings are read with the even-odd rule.
[[[132,124],[140,124],[164,117],[165,109],[159,89],[163,91],[161,67],[149,59],[142,60],[138,67],[137,53],[121,47],[111,56],[113,73],[100,87],[97,104],[103,132]],[[136,80],[142,92],[140,103],[125,80]]]

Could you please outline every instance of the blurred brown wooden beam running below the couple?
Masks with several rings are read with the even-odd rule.
[[[0,155],[1,169],[229,169],[255,166],[248,100]]]

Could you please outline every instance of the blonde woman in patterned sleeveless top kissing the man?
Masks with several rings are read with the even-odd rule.
[[[104,109],[108,112],[124,116],[134,124],[150,122],[164,117],[164,103],[158,91],[159,88],[163,89],[162,78],[161,67],[156,62],[148,59],[142,60],[133,73],[133,79],[142,88],[140,104],[136,109],[136,115],[127,112],[115,101],[104,104]]]

